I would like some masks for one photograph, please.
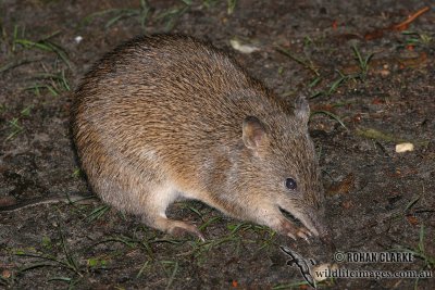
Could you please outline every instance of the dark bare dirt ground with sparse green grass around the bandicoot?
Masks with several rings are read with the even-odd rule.
[[[431,4],[1,1],[0,206],[91,193],[69,130],[72,91],[116,45],[144,33],[181,33],[228,51],[283,98],[311,97],[310,134],[337,252],[227,218],[200,202],[176,203],[170,215],[201,226],[206,242],[152,230],[98,199],[42,204],[0,212],[0,288],[310,289],[299,268],[286,264],[290,259],[279,250],[286,245],[340,269],[432,275],[335,278],[319,289],[434,289]],[[396,152],[403,142],[413,151]],[[412,261],[338,263],[349,252],[411,253]]]

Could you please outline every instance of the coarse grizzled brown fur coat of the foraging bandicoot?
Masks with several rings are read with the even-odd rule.
[[[73,136],[91,188],[149,226],[179,198],[290,237],[323,236],[309,108],[293,112],[225,53],[191,37],[138,37],[105,54],[75,92]],[[294,190],[286,178],[297,182]],[[282,210],[300,219],[297,227]]]

